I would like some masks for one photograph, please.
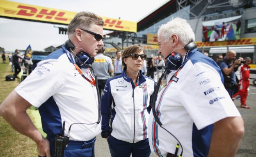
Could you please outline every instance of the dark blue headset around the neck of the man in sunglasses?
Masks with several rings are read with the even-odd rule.
[[[78,47],[75,47],[75,45],[71,42],[71,40],[67,40],[64,43],[64,46],[66,47],[66,49],[71,51],[71,53],[73,53],[73,49],[78,48]],[[78,49],[81,49],[81,48],[78,48]],[[73,53],[73,55],[75,55],[75,54]],[[80,68],[85,68],[85,69],[90,68],[91,69],[91,67],[92,67],[91,64],[93,62],[94,62],[94,57],[91,57],[85,51],[79,52],[75,55],[75,64],[77,64]]]

